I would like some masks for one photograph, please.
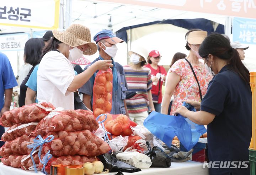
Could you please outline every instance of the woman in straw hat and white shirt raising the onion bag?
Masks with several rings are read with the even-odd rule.
[[[53,35],[43,50],[43,58],[38,67],[37,98],[39,102],[50,102],[64,110],[74,109],[73,92],[83,86],[96,70],[112,67],[112,61],[99,60],[75,76],[70,61],[97,51],[96,44],[91,42],[89,28],[72,24],[64,32],[54,30]]]

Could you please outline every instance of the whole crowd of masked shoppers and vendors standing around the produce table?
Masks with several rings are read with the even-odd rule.
[[[90,29],[80,24],[72,24],[64,32],[48,31],[43,38],[29,39],[25,45],[25,64],[18,73],[20,106],[50,102],[64,110],[76,109],[74,92],[79,91],[86,109],[92,110],[95,77],[99,70],[111,70],[111,114],[126,114],[139,125],[143,125],[150,111],[181,114],[196,124],[207,125],[210,161],[248,161],[251,89],[249,71],[241,61],[248,47],[239,42],[230,44],[221,34],[192,29],[185,34],[189,54],[177,52],[166,72],[159,65],[159,51],[148,51],[141,45],[132,46],[129,65],[114,61],[117,44],[121,42],[110,30],[98,32],[91,42]],[[98,58],[91,63],[83,56],[93,55],[97,50]],[[6,55],[0,53],[0,58],[2,115],[9,110],[12,88],[18,84]],[[79,64],[88,65],[82,70]],[[128,92],[133,94],[129,98]],[[181,106],[184,101],[197,112]],[[0,126],[0,136],[3,132]],[[230,173],[241,174],[241,170],[210,170],[210,174]],[[249,169],[242,171],[249,173]]]

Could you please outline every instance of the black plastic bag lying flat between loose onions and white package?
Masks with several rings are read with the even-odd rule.
[[[124,163],[109,153],[101,154],[98,156],[98,158],[103,163],[104,169],[109,169],[110,172],[121,171],[126,173],[134,173],[141,171],[141,169],[135,168],[132,165]]]

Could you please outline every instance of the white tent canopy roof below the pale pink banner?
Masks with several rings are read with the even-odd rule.
[[[222,15],[97,1],[74,0],[72,6],[70,22],[88,26],[92,30],[92,34],[101,29],[111,29],[116,32],[128,26],[159,22],[171,23],[170,20],[195,19],[202,18],[202,16],[215,23],[224,25],[226,22],[226,16]]]

